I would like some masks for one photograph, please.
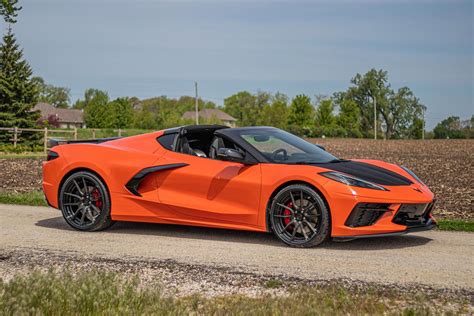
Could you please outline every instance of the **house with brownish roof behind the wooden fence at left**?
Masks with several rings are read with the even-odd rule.
[[[48,120],[51,115],[56,116],[60,128],[85,128],[84,113],[81,110],[55,108],[49,103],[40,102],[33,111],[41,113],[40,120]]]

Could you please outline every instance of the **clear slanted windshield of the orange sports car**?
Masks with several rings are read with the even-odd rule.
[[[280,129],[242,130],[240,137],[274,163],[326,163],[339,161],[327,151]]]

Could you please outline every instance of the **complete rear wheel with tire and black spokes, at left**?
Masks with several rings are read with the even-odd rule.
[[[77,230],[98,231],[113,224],[107,188],[91,172],[79,171],[66,179],[59,193],[59,208]]]

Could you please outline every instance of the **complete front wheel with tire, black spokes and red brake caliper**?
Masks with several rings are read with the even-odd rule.
[[[306,185],[283,188],[271,203],[275,235],[292,247],[315,247],[329,236],[329,211],[321,196]]]

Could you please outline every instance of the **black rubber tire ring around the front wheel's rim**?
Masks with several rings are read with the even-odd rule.
[[[282,239],[280,235],[275,231],[275,218],[273,216],[273,212],[276,209],[276,206],[277,206],[276,203],[278,203],[279,198],[282,195],[284,195],[290,190],[301,190],[301,189],[303,189],[306,193],[310,194],[314,198],[316,203],[318,204],[318,207],[321,210],[321,226],[318,233],[313,238],[309,239],[308,241],[304,243],[295,244],[295,243],[287,242],[286,240]],[[273,233],[278,237],[278,239],[280,239],[285,244],[291,247],[296,247],[296,248],[315,247],[323,243],[324,241],[326,241],[330,234],[331,223],[330,223],[329,209],[326,203],[324,202],[324,200],[322,199],[321,195],[308,185],[292,184],[281,189],[272,200],[271,207],[269,210],[269,216],[270,216],[271,229]]]

